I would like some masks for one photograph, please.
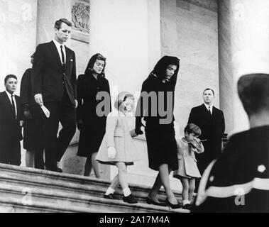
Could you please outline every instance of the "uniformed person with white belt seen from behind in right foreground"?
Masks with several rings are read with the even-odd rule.
[[[193,212],[269,212],[269,74],[245,74],[237,85],[250,129],[231,135],[204,171]]]

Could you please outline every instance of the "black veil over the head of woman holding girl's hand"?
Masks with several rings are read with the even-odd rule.
[[[170,82],[176,84],[177,82],[177,73],[180,70],[180,59],[173,56],[163,56],[155,65],[154,70],[151,72],[155,74],[159,79],[163,80],[166,77],[166,70],[168,65],[176,65],[177,69],[175,74],[171,77]]]

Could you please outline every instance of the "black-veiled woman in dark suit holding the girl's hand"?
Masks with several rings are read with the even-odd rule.
[[[169,179],[170,172],[178,169],[173,110],[179,67],[180,60],[177,57],[162,57],[143,82],[136,109],[136,134],[143,133],[141,118],[144,117],[149,167],[159,172],[146,201],[148,204],[160,205],[157,193],[163,185],[168,196],[166,204],[172,208],[180,207],[170,188]]]

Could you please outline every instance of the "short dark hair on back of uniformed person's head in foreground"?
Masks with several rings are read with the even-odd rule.
[[[237,83],[238,95],[249,115],[269,111],[269,74],[245,74]]]

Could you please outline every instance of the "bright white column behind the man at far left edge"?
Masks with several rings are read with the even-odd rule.
[[[36,1],[0,1],[0,91],[4,77],[15,74],[18,84],[23,72],[31,67],[30,56],[35,50]],[[19,94],[18,86],[16,94]]]

